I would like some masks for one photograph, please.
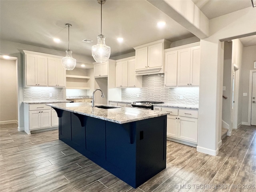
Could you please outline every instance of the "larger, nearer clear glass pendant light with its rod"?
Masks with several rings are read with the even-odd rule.
[[[97,36],[98,42],[92,46],[92,56],[97,63],[107,62],[110,57],[110,47],[105,44],[105,36],[102,35],[102,4],[105,4],[106,0],[98,0],[100,4],[100,35]]]

